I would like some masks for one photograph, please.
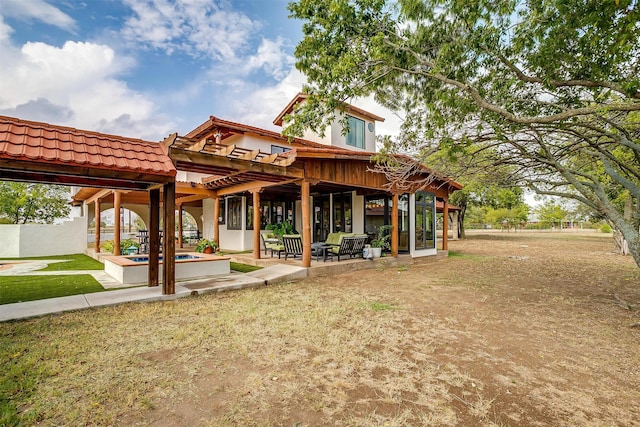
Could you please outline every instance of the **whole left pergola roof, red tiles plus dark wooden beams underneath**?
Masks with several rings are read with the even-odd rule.
[[[175,175],[161,143],[0,116],[0,179],[147,188]]]

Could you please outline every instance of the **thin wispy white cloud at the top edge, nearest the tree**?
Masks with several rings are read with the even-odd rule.
[[[247,48],[260,24],[211,0],[125,0],[135,16],[125,22],[123,37],[172,54],[225,61]]]

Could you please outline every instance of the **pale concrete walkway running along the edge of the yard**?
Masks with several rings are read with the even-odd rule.
[[[14,264],[11,268],[16,268]],[[42,267],[42,266],[40,266]],[[25,265],[9,273],[2,271],[2,275],[50,275],[50,274],[91,274],[101,282],[105,288],[113,288],[115,282],[102,271],[60,271],[35,272]],[[29,317],[42,316],[63,311],[81,310],[90,307],[103,307],[123,304],[127,302],[162,301],[183,298],[191,295],[221,292],[235,289],[255,288],[269,284],[288,282],[307,277],[307,269],[291,265],[274,265],[250,273],[231,273],[204,279],[176,282],[174,295],[162,295],[162,287],[140,286],[127,289],[113,289],[68,297],[50,298],[38,301],[28,301],[15,304],[0,305],[0,322]],[[122,286],[121,284],[118,284]]]

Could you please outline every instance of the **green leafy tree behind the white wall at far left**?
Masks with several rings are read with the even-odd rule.
[[[13,224],[51,224],[69,215],[69,187],[0,181],[0,216]]]

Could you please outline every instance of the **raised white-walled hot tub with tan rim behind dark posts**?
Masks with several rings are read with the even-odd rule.
[[[147,255],[109,255],[104,258],[104,271],[122,284],[147,283],[149,257]],[[162,279],[162,255],[159,278]],[[229,274],[229,257],[188,252],[176,255],[176,280],[196,279]]]

